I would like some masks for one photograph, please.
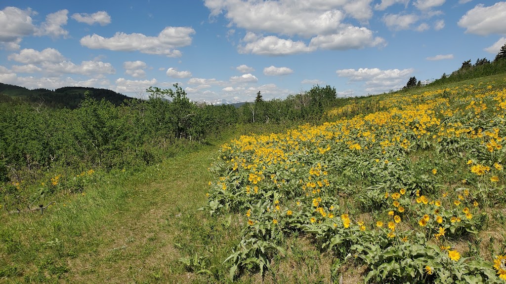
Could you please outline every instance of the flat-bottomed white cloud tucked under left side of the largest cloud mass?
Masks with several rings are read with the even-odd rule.
[[[248,35],[246,35],[248,36]],[[244,41],[250,39],[244,37]],[[313,48],[309,48],[303,41],[293,41],[291,39],[282,39],[274,35],[260,37],[255,41],[246,43],[245,45],[238,46],[238,52],[240,54],[256,54],[256,55],[292,55],[298,53],[307,53],[314,51]]]

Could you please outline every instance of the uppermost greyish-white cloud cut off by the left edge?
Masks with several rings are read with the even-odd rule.
[[[16,7],[6,7],[0,10],[0,42],[17,42],[20,38],[34,32],[30,9],[21,10]]]

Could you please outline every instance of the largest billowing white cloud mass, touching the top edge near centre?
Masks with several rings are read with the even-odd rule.
[[[317,49],[346,50],[384,43],[365,27],[343,23],[347,17],[367,22],[372,0],[242,1],[206,0],[212,16],[224,14],[230,25],[246,29],[237,46],[241,54],[283,56]],[[270,33],[264,36],[262,33]],[[298,36],[297,40],[283,38]],[[306,40],[311,38],[311,42]]]

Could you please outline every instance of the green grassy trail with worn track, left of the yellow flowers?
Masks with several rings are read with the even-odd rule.
[[[194,282],[178,261],[195,249],[218,146],[62,197],[44,216],[2,213],[0,282]],[[175,243],[178,248],[175,248]],[[190,247],[185,243],[193,243]]]

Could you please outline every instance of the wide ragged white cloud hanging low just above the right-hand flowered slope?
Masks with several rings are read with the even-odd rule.
[[[365,82],[365,91],[384,92],[390,89],[400,88],[404,80],[413,72],[413,69],[389,69],[360,68],[337,70],[340,77],[348,78],[349,82]]]

